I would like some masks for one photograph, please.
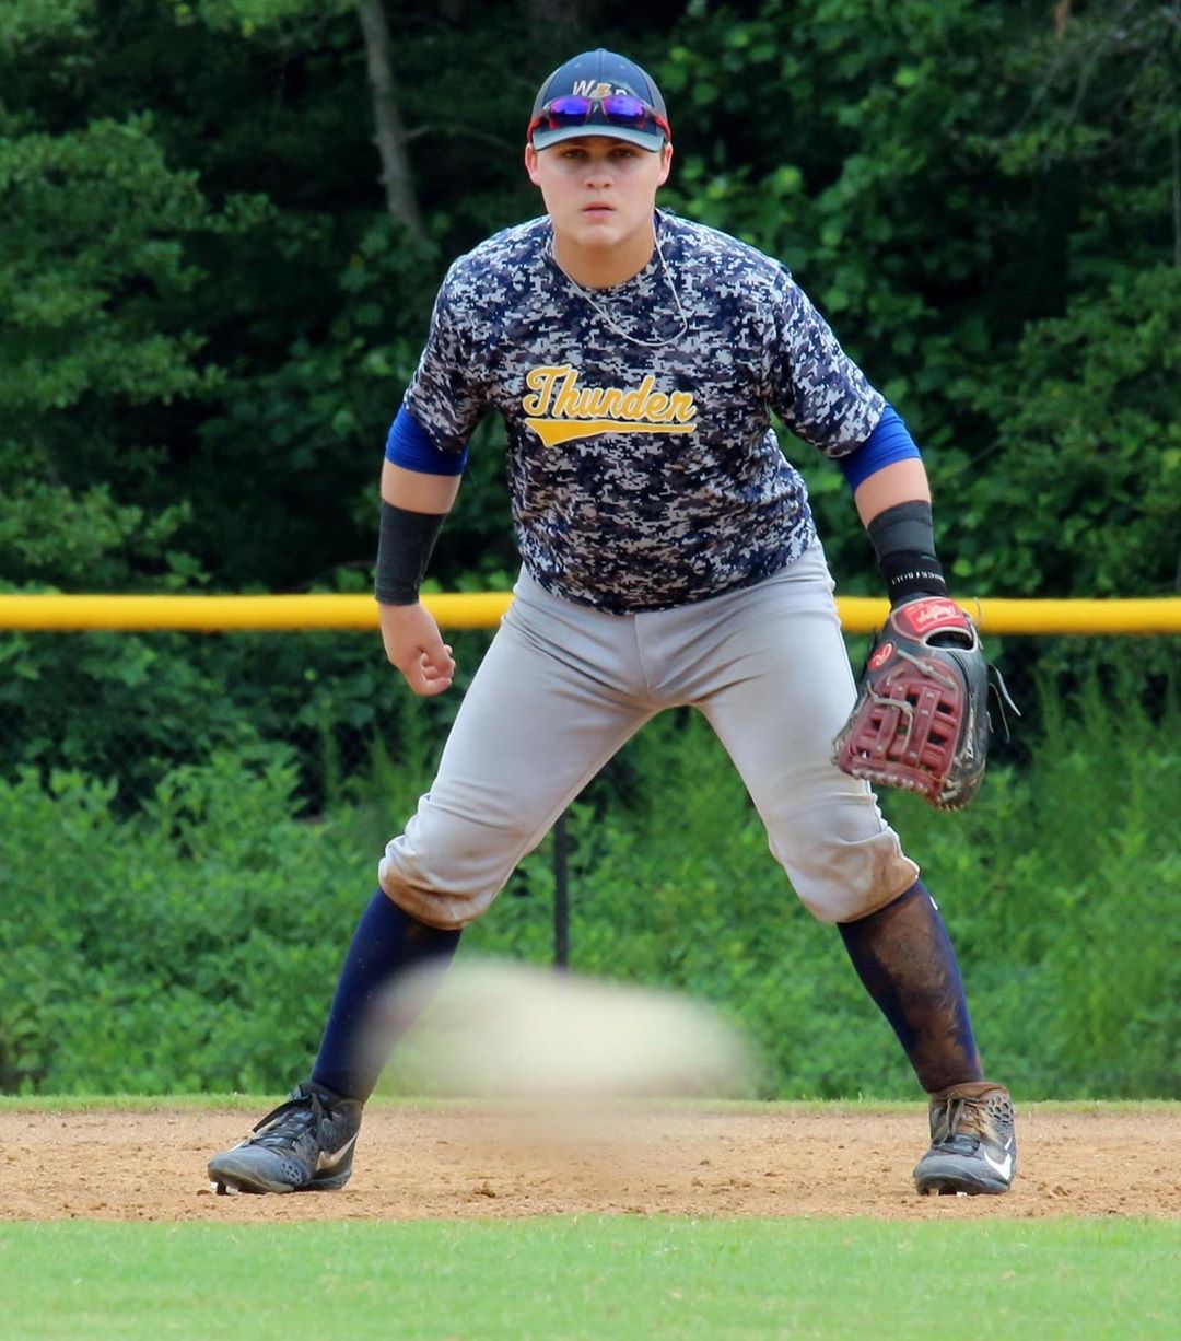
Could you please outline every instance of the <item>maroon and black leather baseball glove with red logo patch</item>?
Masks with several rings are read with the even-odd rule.
[[[838,768],[916,791],[937,810],[967,806],[988,759],[989,676],[999,701],[1016,712],[954,601],[918,597],[895,606],[834,742]]]

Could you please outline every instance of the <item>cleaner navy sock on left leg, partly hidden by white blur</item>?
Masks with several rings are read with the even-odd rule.
[[[408,968],[432,960],[445,967],[458,940],[458,931],[416,921],[378,889],[345,956],[312,1081],[340,1098],[367,1100],[398,1034],[412,1023],[381,1010],[383,992]]]

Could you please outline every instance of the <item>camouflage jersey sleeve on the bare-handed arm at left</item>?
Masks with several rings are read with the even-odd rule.
[[[472,298],[456,263],[434,299],[426,345],[402,401],[442,452],[462,452],[488,408]]]

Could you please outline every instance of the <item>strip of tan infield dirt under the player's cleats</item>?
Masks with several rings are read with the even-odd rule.
[[[925,1114],[575,1112],[377,1104],[340,1192],[216,1196],[205,1161],[261,1113],[0,1112],[0,1219],[465,1219],[523,1215],[1181,1218],[1176,1109],[1019,1109],[1007,1196],[920,1198]]]

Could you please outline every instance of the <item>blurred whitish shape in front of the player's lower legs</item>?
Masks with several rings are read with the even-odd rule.
[[[408,975],[375,1012],[398,1046],[383,1090],[593,1100],[755,1093],[752,1045],[713,1007],[670,991],[465,956]]]

